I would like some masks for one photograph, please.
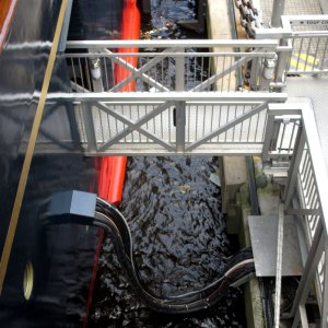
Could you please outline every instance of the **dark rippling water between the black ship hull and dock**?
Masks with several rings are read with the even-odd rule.
[[[195,16],[195,0],[152,0],[152,38],[199,37],[175,23]],[[167,24],[169,22],[169,24]],[[167,28],[169,26],[169,28]],[[129,157],[120,210],[131,229],[141,277],[160,296],[184,293],[218,279],[233,246],[225,233],[221,189],[210,181],[218,157]],[[239,290],[190,316],[159,315],[134,294],[105,239],[90,327],[244,327]]]

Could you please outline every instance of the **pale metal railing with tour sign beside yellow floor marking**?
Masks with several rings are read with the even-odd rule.
[[[259,28],[257,39],[276,38],[278,62],[274,82],[285,75],[328,72],[328,15],[282,16],[281,28]]]

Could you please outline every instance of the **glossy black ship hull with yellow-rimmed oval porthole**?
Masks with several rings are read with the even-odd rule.
[[[121,5],[109,2],[113,1],[97,4],[74,1],[70,37],[105,38],[108,31],[116,33]],[[10,232],[26,142],[60,4],[59,0],[16,1],[0,54],[0,251]],[[103,22],[93,24],[96,15],[105,14],[104,10],[99,11],[102,5],[110,12],[110,26],[106,27]],[[115,24],[117,27],[113,27]],[[66,62],[57,60],[49,92],[68,89]],[[96,192],[97,188],[94,160],[75,151],[79,134],[70,113],[65,104],[45,107],[38,139],[62,139],[59,137],[63,136],[71,140],[74,154],[40,152],[33,156],[0,296],[1,327],[82,327],[87,319],[98,231],[43,223],[54,192],[70,189]],[[28,276],[31,268],[33,279]],[[33,284],[32,294],[26,297],[30,284]]]

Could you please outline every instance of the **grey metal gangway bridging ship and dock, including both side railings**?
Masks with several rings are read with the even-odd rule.
[[[263,65],[276,59],[277,40],[139,40],[139,54],[117,51],[131,45],[70,42],[59,57],[74,92],[49,94],[48,105],[69,103],[86,155],[261,153],[268,104],[286,99],[266,92],[273,74]],[[130,75],[115,83],[117,69]],[[235,90],[247,71],[257,92]],[[131,81],[139,92],[120,92]],[[40,136],[36,151],[70,149],[54,140]]]

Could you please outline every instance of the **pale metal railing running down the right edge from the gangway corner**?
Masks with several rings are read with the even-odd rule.
[[[285,125],[291,125],[286,132]],[[293,127],[292,127],[293,126]],[[282,131],[285,141],[281,141]],[[296,131],[296,132],[295,132]],[[294,133],[295,132],[295,133]],[[315,285],[321,314],[320,327],[328,327],[328,180],[314,113],[309,103],[269,105],[263,160],[290,155],[280,144],[292,144],[289,177],[283,195],[285,212],[296,214],[304,225],[308,254],[293,307],[284,317],[294,318],[293,327],[307,327],[305,304]],[[281,153],[282,151],[282,153]],[[297,201],[293,198],[297,195]],[[297,208],[293,208],[294,203]]]

